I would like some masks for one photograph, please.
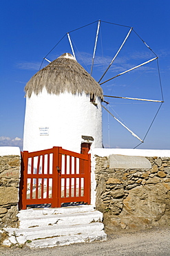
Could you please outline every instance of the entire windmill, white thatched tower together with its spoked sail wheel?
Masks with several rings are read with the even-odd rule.
[[[97,21],[94,21],[92,24],[96,22]],[[101,23],[109,24],[111,26],[121,26],[121,28],[125,27],[126,29],[128,29],[128,32],[125,35],[125,37],[123,37],[122,44],[120,44],[118,48],[114,49],[114,57],[111,55],[111,59],[107,63],[107,68],[105,69],[105,71],[103,70],[103,75],[100,77],[99,80],[94,80],[94,78],[92,77],[92,71],[94,68],[94,59],[96,57],[96,48],[98,44],[98,35],[100,34],[99,30]],[[58,44],[67,35],[74,57],[68,53],[65,55],[61,55],[61,57],[54,60],[48,66],[46,66],[41,71],[36,73],[36,75],[34,75],[28,82],[28,84],[25,86],[27,101],[25,110],[23,150],[28,150],[31,152],[39,149],[47,149],[56,145],[64,147],[65,149],[70,149],[75,152],[80,152],[81,143],[83,142],[83,140],[87,142],[89,141],[89,139],[91,139],[90,141],[92,142],[92,148],[103,147],[101,113],[102,107],[103,109],[105,109],[105,112],[107,111],[107,113],[114,117],[114,119],[117,120],[120,123],[120,125],[123,125],[125,129],[127,129],[135,138],[137,138],[140,141],[140,144],[144,142],[145,137],[147,136],[149,129],[151,128],[151,125],[153,124],[153,121],[155,120],[158,111],[160,111],[160,107],[164,102],[162,95],[162,85],[160,81],[160,71],[158,66],[158,56],[151,50],[151,48],[145,43],[145,41],[143,41],[139,37],[139,35],[134,31],[133,28],[129,26],[112,24],[110,22],[99,20],[96,30],[94,51],[92,54],[92,65],[89,73],[87,73],[87,71],[85,71],[85,69],[80,64],[78,64],[78,62],[76,62],[76,57],[74,54],[70,34],[92,24],[87,24],[81,28],[76,28],[75,30],[70,31],[70,33],[66,33],[62,37],[62,39],[59,40],[59,42],[56,44],[56,46],[58,46]],[[113,66],[114,64],[116,64],[118,55],[120,55],[120,52],[123,51],[125,44],[127,44],[127,39],[130,37],[132,33],[138,39],[140,39],[142,45],[144,44],[145,48],[147,48],[147,51],[151,53],[151,57],[150,55],[145,56],[145,54],[137,54],[137,57],[134,57],[133,59],[132,54],[132,63],[134,62],[135,64],[125,64],[125,67],[119,66],[120,73],[117,73],[115,68],[116,74],[113,76]],[[114,42],[115,40],[116,38],[114,37]],[[83,39],[83,46],[85,46],[84,42],[85,39]],[[88,39],[86,43],[87,42]],[[102,45],[103,43],[101,40],[101,46]],[[56,46],[54,46],[54,48]],[[47,60],[46,57],[54,50],[54,48],[52,48],[52,50],[43,58],[43,60]],[[77,47],[76,51],[78,55],[81,55]],[[80,59],[83,60],[83,57],[79,57],[79,60]],[[103,63],[104,60],[105,59],[103,58]],[[120,58],[120,60],[123,59]],[[120,62],[120,60],[118,61],[118,63]],[[148,65],[153,62],[156,63],[156,66],[158,68],[157,77],[158,83],[160,84],[162,100],[152,100],[144,98],[143,96],[138,98],[138,96],[136,95],[134,97],[120,97],[120,95],[108,95],[105,89],[106,83],[108,84],[110,81],[113,81],[116,77],[122,77],[122,75],[134,73],[134,71],[140,68],[142,73],[142,68],[146,66],[146,69],[144,70],[147,70],[147,68],[149,68]],[[41,66],[42,64],[43,62],[41,63]],[[128,67],[128,69],[126,68],[126,66]],[[109,73],[108,71],[111,72]],[[138,77],[140,77],[140,75],[138,75]],[[135,77],[134,82],[138,80],[138,77]],[[126,83],[128,84],[128,82]],[[103,90],[100,86],[103,86]],[[149,86],[147,86],[147,83],[145,83],[145,89],[143,87],[144,86],[142,85],[142,91],[145,91],[146,87]],[[154,90],[152,90],[152,93],[153,91]],[[111,110],[109,111],[109,107],[111,108],[111,104],[108,104],[109,102],[103,100],[103,97],[107,99],[125,99],[129,100],[130,102],[157,102],[159,104],[158,110],[156,111],[153,120],[151,120],[151,125],[149,125],[149,128],[147,129],[145,136],[143,138],[137,136],[133,131],[131,131],[131,129],[129,129],[129,127],[127,127],[127,125],[125,125],[125,122],[122,119],[122,121],[120,121],[119,117],[116,118],[115,114],[113,115],[113,113],[111,113]],[[101,104],[102,101],[108,104],[108,109],[105,105]],[[138,147],[139,145],[137,145],[136,147]]]

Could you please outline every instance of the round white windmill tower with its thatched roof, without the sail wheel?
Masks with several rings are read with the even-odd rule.
[[[103,90],[70,53],[36,73],[25,93],[23,150],[59,146],[80,153],[83,142],[103,146]]]

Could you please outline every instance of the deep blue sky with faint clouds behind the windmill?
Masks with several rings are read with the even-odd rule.
[[[118,51],[130,27],[158,55],[164,103],[145,143],[138,148],[170,149],[169,1],[1,0],[0,8],[0,146],[22,145],[24,86],[39,70],[43,57],[65,33],[96,21],[70,33],[78,62],[87,71],[90,70],[97,21],[100,19],[125,26],[101,22],[92,73],[97,81]],[[155,57],[134,30],[102,82]],[[66,36],[47,58],[54,60],[65,52],[71,53]],[[44,61],[45,65],[47,62]],[[103,91],[105,95],[162,100],[157,62],[116,77],[103,84]],[[107,109],[142,139],[160,106],[159,103],[132,100],[105,100],[109,101]],[[103,143],[105,147],[133,148],[140,141],[103,110]]]

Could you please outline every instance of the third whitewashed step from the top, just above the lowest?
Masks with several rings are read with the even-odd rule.
[[[44,227],[35,227],[35,228],[6,228],[6,231],[9,232],[9,240],[16,243],[16,238],[19,244],[25,243],[27,240],[33,239],[44,239],[46,237],[56,237],[56,236],[69,236],[69,235],[81,235],[81,234],[90,234],[92,232],[98,233],[103,230],[103,223],[94,222],[89,224],[82,225],[73,225],[73,226],[48,226]]]

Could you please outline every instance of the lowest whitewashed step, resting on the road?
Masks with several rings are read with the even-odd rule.
[[[70,235],[65,237],[53,237],[46,239],[33,240],[31,243],[27,244],[30,248],[47,248],[54,246],[67,246],[69,244],[85,243],[92,241],[105,241],[107,235],[102,230],[100,232],[92,232],[91,234],[81,234],[81,235]]]

